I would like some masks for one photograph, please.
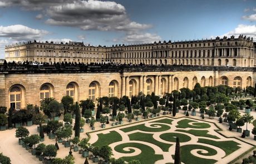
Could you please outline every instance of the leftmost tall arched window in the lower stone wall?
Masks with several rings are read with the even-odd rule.
[[[10,90],[10,105],[16,110],[21,110],[21,88],[12,87]]]

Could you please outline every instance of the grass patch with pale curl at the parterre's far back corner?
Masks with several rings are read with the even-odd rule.
[[[189,125],[190,122],[194,122],[193,125]],[[178,122],[178,125],[176,126],[178,128],[209,128],[211,127],[208,123],[203,122],[196,122],[188,119],[184,119]]]

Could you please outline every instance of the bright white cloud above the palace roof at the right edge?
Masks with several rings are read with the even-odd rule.
[[[220,37],[223,36],[235,36],[238,37],[240,34],[243,34],[243,36],[247,36],[247,37],[253,37],[254,41],[256,39],[256,25],[245,25],[245,24],[239,24],[237,28],[235,28],[233,31],[229,31],[225,34],[223,34]]]

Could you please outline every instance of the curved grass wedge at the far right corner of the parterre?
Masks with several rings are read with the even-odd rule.
[[[213,141],[213,140],[199,138],[198,142],[206,143],[208,145],[213,145],[213,146],[221,148],[222,150],[225,151],[225,153],[226,153],[225,156],[230,155],[230,153],[233,153],[234,151],[236,151],[240,148],[238,146],[239,144],[234,141]]]

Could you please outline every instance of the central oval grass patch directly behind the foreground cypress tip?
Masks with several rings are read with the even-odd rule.
[[[188,142],[191,140],[189,136],[180,133],[164,133],[160,135],[160,138],[162,140],[174,143],[176,142],[176,137],[179,137],[180,142]]]

